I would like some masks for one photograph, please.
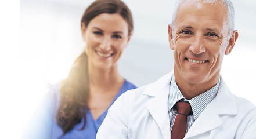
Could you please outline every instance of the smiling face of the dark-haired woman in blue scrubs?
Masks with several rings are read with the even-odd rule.
[[[82,35],[89,66],[103,69],[117,66],[131,36],[128,36],[128,23],[122,16],[109,13],[94,17],[86,28],[82,23]]]

